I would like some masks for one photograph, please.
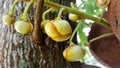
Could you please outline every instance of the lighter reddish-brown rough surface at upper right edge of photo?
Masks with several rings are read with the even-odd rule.
[[[111,0],[108,8],[108,12],[105,14],[106,19],[111,25],[112,31],[115,33],[116,37],[120,41],[120,1]]]

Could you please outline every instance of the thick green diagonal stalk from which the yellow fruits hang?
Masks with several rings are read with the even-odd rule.
[[[101,19],[100,17],[94,17],[94,16],[86,14],[85,12],[82,12],[82,11],[80,11],[78,9],[74,9],[74,8],[71,8],[71,7],[60,5],[60,4],[51,2],[51,1],[45,1],[44,5],[48,6],[48,7],[52,7],[54,9],[65,8],[64,11],[66,11],[68,13],[73,13],[73,14],[81,16],[84,19],[90,19],[90,20],[96,21],[95,23],[98,23],[98,24],[100,24],[100,25],[102,25],[102,26],[104,26],[104,27],[106,27],[108,29],[111,29],[110,24],[104,18]]]

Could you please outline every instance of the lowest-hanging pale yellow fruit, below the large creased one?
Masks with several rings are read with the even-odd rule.
[[[80,61],[85,56],[85,50],[78,45],[71,45],[63,51],[63,56],[69,62]]]

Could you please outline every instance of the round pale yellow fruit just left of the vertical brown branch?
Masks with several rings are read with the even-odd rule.
[[[30,22],[16,21],[14,24],[15,30],[21,34],[28,34],[33,30]]]

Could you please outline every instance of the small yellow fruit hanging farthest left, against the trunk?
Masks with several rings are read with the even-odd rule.
[[[10,16],[10,15],[3,15],[2,16],[2,21],[6,25],[11,25],[15,22],[15,18],[13,16]]]

